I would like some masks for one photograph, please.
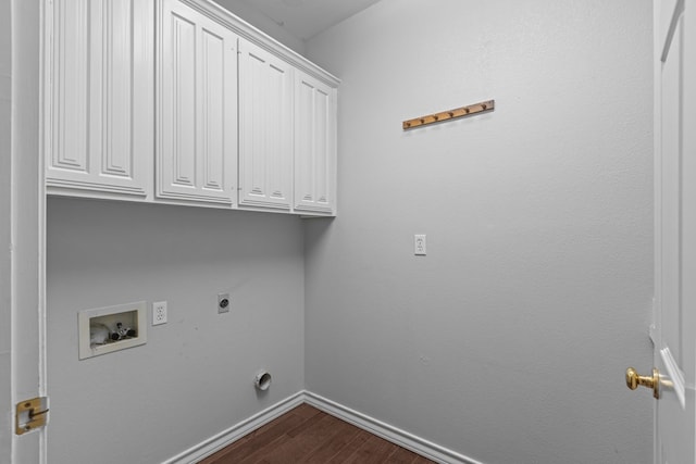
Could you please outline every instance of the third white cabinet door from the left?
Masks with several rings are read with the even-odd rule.
[[[239,51],[239,204],[289,210],[293,70],[246,40]]]

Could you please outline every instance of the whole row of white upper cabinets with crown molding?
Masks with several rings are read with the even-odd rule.
[[[44,5],[49,195],[336,213],[336,77],[210,0]]]

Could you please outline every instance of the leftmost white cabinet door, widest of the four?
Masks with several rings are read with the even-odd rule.
[[[46,3],[46,181],[146,196],[154,122],[154,5]]]

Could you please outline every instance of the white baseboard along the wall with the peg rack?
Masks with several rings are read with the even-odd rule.
[[[346,407],[335,401],[304,391],[304,402],[318,410],[336,416],[347,423],[362,428],[371,434],[382,437],[387,441],[398,444],[401,448],[411,450],[424,457],[443,464],[483,464],[480,461],[467,457],[447,448],[443,448],[413,434],[393,427],[366,414]]]

